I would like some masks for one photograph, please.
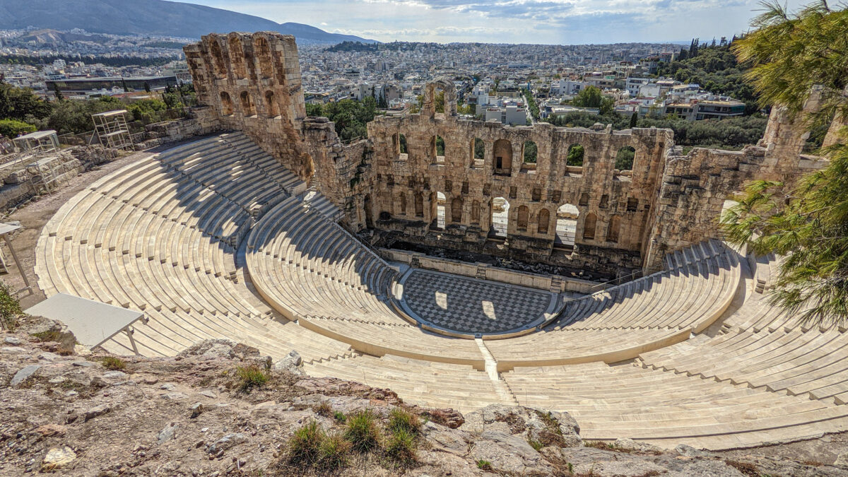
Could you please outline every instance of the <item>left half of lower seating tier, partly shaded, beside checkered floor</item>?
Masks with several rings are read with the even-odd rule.
[[[422,332],[388,304],[397,273],[321,212],[287,199],[248,237],[248,271],[259,294],[290,319],[355,349],[483,369],[471,340]]]

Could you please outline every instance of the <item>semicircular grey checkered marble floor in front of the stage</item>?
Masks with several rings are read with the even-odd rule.
[[[460,333],[522,328],[549,309],[552,294],[505,283],[416,269],[403,282],[405,305],[418,317]]]

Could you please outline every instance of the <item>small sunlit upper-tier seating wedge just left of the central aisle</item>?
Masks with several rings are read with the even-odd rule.
[[[452,407],[469,412],[489,404],[504,403],[488,375],[466,365],[355,353],[342,359],[312,362],[305,370],[311,376],[350,379],[389,388],[405,402],[420,406]]]

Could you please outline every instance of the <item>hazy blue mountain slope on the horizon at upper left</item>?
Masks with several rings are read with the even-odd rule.
[[[279,31],[298,43],[373,43],[353,35],[328,33],[301,23],[279,24],[254,15],[164,0],[0,0],[0,29],[33,26],[53,30],[81,28],[113,35],[163,35],[199,38],[230,31]]]

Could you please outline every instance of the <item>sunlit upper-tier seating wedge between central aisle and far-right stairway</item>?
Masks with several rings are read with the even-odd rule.
[[[721,449],[817,435],[820,420],[848,424],[848,407],[632,364],[516,368],[504,379],[522,404],[571,412],[588,439]]]

